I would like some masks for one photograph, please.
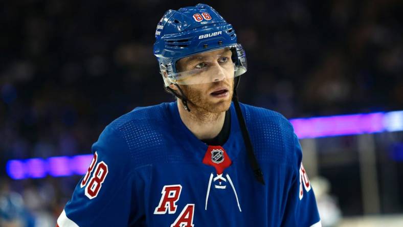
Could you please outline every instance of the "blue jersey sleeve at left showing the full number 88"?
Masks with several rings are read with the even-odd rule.
[[[142,180],[130,165],[120,132],[107,126],[92,146],[94,158],[57,219],[59,227],[127,226],[144,214]]]

